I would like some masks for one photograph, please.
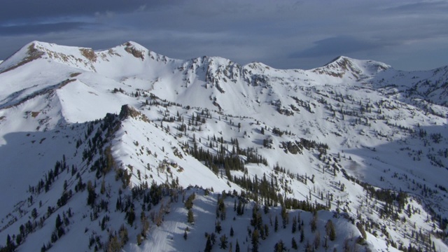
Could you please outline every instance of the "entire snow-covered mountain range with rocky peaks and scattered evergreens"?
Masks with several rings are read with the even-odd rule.
[[[447,251],[447,88],[33,41],[0,63],[0,248]]]

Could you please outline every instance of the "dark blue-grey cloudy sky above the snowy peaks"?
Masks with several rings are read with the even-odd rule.
[[[0,59],[30,41],[311,69],[346,55],[395,69],[448,65],[448,1],[7,0]]]

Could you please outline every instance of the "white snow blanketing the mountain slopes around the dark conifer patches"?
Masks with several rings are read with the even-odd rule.
[[[43,55],[20,64],[29,55],[30,45]],[[13,66],[18,67],[11,69]],[[187,210],[181,200],[171,202],[165,221],[160,227],[151,223],[148,238],[140,246],[136,239],[139,228],[125,223],[130,232],[125,250],[202,250],[204,232],[214,232],[218,193],[243,190],[228,181],[222,167],[215,174],[186,148],[197,144],[216,154],[221,143],[213,139],[219,137],[223,137],[225,153],[232,153],[235,146],[230,139],[237,139],[239,148],[253,148],[267,160],[267,165],[246,163],[246,171],[232,171],[232,176],[265,176],[267,181],[278,183],[283,197],[323,205],[328,204],[327,195],[332,195],[330,209],[318,212],[319,230],[323,237],[325,222],[332,219],[338,232],[346,234],[330,243],[338,251],[346,239],[356,243],[360,233],[356,223],[346,218],[360,221],[359,215],[378,224],[367,232],[365,246],[372,251],[395,251],[391,241],[416,246],[409,230],[423,230],[425,234],[443,231],[437,220],[427,218],[428,207],[447,218],[447,192],[442,190],[448,175],[444,155],[448,146],[447,67],[405,72],[381,62],[339,57],[316,69],[280,70],[258,62],[239,66],[221,57],[170,59],[132,41],[99,52],[34,41],[2,62],[0,72],[0,190],[6,192],[0,197],[0,241],[5,241],[8,234],[17,234],[20,225],[32,220],[31,209],[38,209],[38,219],[45,216],[48,207],[54,207],[61,197],[64,181],[74,190],[78,172],[84,183],[97,183],[98,201],[112,202],[109,211],[91,221],[92,211],[85,203],[87,192],[74,193],[64,207],[48,216],[43,228],[27,236],[20,250],[33,250],[50,241],[57,214],[62,215],[69,207],[74,214],[66,227],[68,235],[53,243],[52,249],[92,250],[87,246],[92,235],[101,236],[102,241],[109,237],[108,231],[98,225],[103,217],[111,218],[107,224],[111,230],[118,231],[125,223],[125,213],[114,211],[113,204],[119,197],[131,195],[130,188],[145,182],[172,181],[189,188],[181,193],[197,193],[195,223],[186,222]],[[106,114],[120,114],[124,104],[138,116],[119,118],[113,131],[103,132]],[[194,118],[198,115],[204,122],[196,125]],[[188,130],[180,131],[181,125]],[[87,134],[90,127],[92,132]],[[274,127],[291,134],[274,134]],[[423,132],[425,136],[421,136]],[[437,134],[442,136],[438,141]],[[89,162],[83,152],[95,145],[98,135],[106,144]],[[272,141],[270,148],[263,146],[265,139]],[[317,148],[302,148],[297,154],[283,149],[283,143],[301,139],[329,148],[325,154]],[[109,147],[114,169],[132,174],[128,187],[122,188],[116,172],[98,177],[90,171],[94,160]],[[45,180],[45,174],[63,156],[78,172],[59,174],[47,193],[29,193],[29,186]],[[247,160],[244,155],[239,157]],[[274,171],[277,165],[287,173]],[[409,195],[407,205],[415,209],[414,213],[409,217],[402,211],[397,221],[380,218],[384,202],[366,197],[359,183],[342,172],[333,172],[333,167],[372,186],[405,191]],[[102,181],[110,190],[106,195],[99,193]],[[206,196],[203,190],[190,186],[213,188],[215,193]],[[423,191],[423,186],[430,193]],[[34,197],[31,202],[30,195]],[[229,237],[229,242],[234,248],[237,238],[241,249],[250,248],[251,238],[246,242],[244,234],[250,226],[254,202],[248,203],[244,216],[236,216],[233,200],[228,197],[226,201],[228,216],[222,223],[223,232],[228,235],[232,227],[237,235]],[[169,201],[165,197],[165,204]],[[158,211],[161,205],[152,206],[151,211]],[[333,217],[336,209],[344,214]],[[141,206],[135,210],[139,220]],[[280,207],[272,207],[270,215],[263,214],[263,220],[267,223],[269,216],[280,211]],[[298,212],[290,210],[290,216]],[[301,216],[308,225],[311,213],[301,211]],[[184,240],[187,227],[190,232]],[[381,232],[383,227],[389,237]],[[290,224],[286,230],[274,233],[271,228],[272,235],[262,241],[263,248],[274,248],[279,239],[290,248]],[[306,236],[313,241],[314,234]],[[440,251],[448,249],[434,235],[431,239]],[[82,246],[77,241],[82,241]]]

